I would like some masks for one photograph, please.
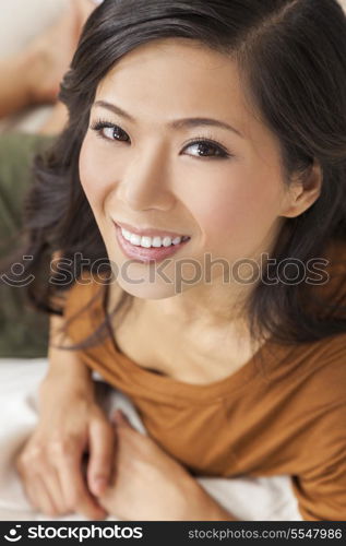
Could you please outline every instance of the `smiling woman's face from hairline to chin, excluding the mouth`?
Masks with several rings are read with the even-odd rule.
[[[178,123],[186,118],[195,120]],[[182,292],[220,280],[207,254],[231,265],[270,251],[289,207],[278,142],[246,104],[229,58],[182,38],[141,46],[100,82],[90,121],[81,182],[124,290],[166,298],[177,275],[198,273]],[[165,266],[131,261],[115,222],[190,240]]]

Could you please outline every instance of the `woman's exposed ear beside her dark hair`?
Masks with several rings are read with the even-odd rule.
[[[314,162],[303,174],[291,181],[284,199],[282,216],[294,218],[307,211],[320,197],[322,180],[322,169]]]

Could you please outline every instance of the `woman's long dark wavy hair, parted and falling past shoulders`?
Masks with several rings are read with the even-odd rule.
[[[25,203],[21,256],[33,257],[23,265],[25,274],[37,280],[26,289],[38,309],[62,313],[52,305],[53,296],[68,289],[85,268],[76,263],[76,254],[90,263],[100,260],[103,271],[110,271],[80,182],[80,150],[102,79],[129,51],[166,37],[196,40],[237,61],[244,95],[278,139],[284,183],[297,173],[303,180],[313,163],[321,168],[321,194],[303,214],[285,219],[272,254],[276,264],[287,258],[307,264],[331,241],[346,245],[346,16],[339,3],[105,0],[88,19],[61,84],[69,122],[49,153],[36,158],[36,181]],[[55,251],[61,252],[69,273],[63,286],[48,282]],[[269,276],[276,273],[274,265]],[[341,275],[339,286],[345,287],[345,272]],[[273,286],[266,281],[262,277],[248,306],[253,339],[270,332],[283,343],[305,343],[346,332],[341,302],[314,299],[306,283]],[[109,333],[109,319],[131,299],[121,294],[94,341]]]

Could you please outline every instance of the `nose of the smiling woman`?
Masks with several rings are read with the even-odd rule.
[[[127,209],[135,211],[157,209],[168,211],[174,206],[171,169],[163,143],[139,152],[122,171],[118,198]]]

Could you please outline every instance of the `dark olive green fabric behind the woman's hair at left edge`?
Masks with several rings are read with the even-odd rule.
[[[22,227],[23,200],[33,183],[33,157],[51,140],[25,133],[0,134],[0,261],[13,250]],[[48,320],[27,304],[23,289],[1,283],[0,357],[47,356]]]

